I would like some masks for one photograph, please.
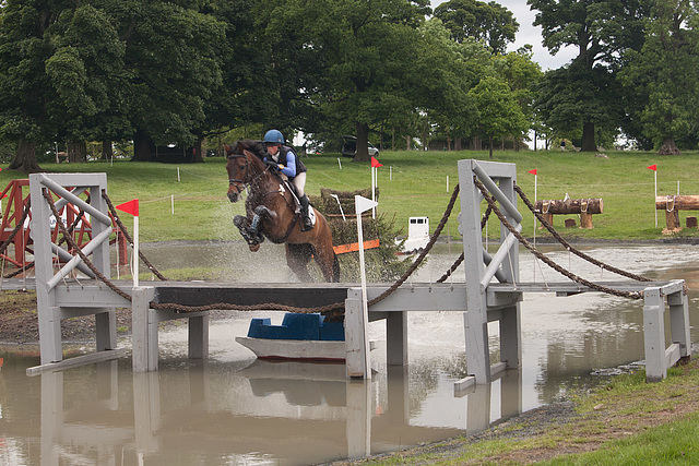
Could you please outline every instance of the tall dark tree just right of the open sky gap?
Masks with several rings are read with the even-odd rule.
[[[554,55],[578,48],[568,67],[546,73],[540,106],[558,131],[582,127],[582,151],[596,151],[595,126],[618,127],[624,116],[616,72],[620,57],[643,43],[645,0],[528,0],[538,10],[544,46]]]

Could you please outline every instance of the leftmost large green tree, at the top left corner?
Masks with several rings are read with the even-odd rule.
[[[10,0],[0,10],[0,133],[11,169],[40,170],[37,144],[80,139],[110,101],[123,48],[90,4]]]

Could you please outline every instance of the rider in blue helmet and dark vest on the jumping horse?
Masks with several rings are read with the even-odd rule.
[[[309,202],[304,193],[306,187],[306,166],[301,163],[300,157],[289,146],[284,145],[284,136],[279,130],[270,130],[264,134],[264,146],[269,158],[277,164],[280,171],[294,183],[298,193],[298,201],[301,206],[301,230],[308,231],[313,228],[308,215]],[[264,158],[269,162],[268,157]]]

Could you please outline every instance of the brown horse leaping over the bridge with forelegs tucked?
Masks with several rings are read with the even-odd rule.
[[[266,237],[274,243],[285,243],[286,263],[301,282],[312,282],[308,262],[313,256],[325,282],[340,280],[340,263],[332,249],[332,234],[328,220],[316,208],[316,225],[301,231],[300,213],[297,208],[292,183],[286,183],[276,164],[268,165],[264,145],[257,141],[238,141],[234,147],[224,144],[228,163],[228,199],[238,202],[240,194],[249,188],[245,202],[246,216],[236,215],[233,223],[248,242],[250,251],[260,249]]]

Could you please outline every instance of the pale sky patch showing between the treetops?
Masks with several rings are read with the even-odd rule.
[[[490,0],[481,0],[490,2]],[[558,53],[552,56],[548,49],[542,45],[542,29],[540,26],[533,26],[532,23],[536,16],[535,11],[530,11],[526,0],[495,0],[502,7],[512,12],[514,19],[520,24],[520,31],[517,33],[514,44],[508,47],[508,51],[517,50],[525,44],[531,44],[534,52],[534,61],[541,64],[542,71],[555,70],[568,63],[577,53],[574,48],[568,47],[560,49]],[[443,0],[431,0],[433,9]]]

